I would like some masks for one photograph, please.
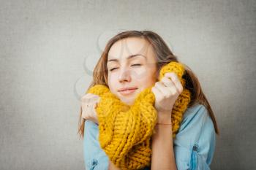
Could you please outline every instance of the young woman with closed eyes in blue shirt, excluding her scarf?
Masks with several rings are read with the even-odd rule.
[[[183,87],[174,72],[158,80],[159,70],[170,61],[178,62],[164,40],[152,31],[125,31],[114,36],[94,68],[94,85],[106,85],[125,104],[151,88],[156,98],[157,124],[152,136],[151,166],[145,169],[210,169],[214,157],[217,122],[195,74],[185,68],[186,88],[191,101],[182,117],[176,138],[170,137],[170,114]],[[99,96],[87,93],[81,98],[78,133],[83,136],[86,169],[118,169],[99,145],[95,108]],[[85,128],[86,127],[86,128]]]

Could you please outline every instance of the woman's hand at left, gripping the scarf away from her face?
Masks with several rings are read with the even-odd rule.
[[[84,119],[91,120],[94,123],[99,124],[97,112],[95,110],[99,100],[100,100],[100,97],[92,93],[87,93],[84,96],[82,96],[81,106],[82,106],[82,117]]]

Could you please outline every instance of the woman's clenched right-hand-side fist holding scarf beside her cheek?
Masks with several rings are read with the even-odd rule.
[[[168,117],[170,118],[173,105],[183,91],[182,84],[178,80],[176,73],[166,73],[161,81],[155,83],[151,91],[156,98],[154,107],[158,112],[161,112],[161,114],[158,115],[159,118],[162,117],[162,120]]]

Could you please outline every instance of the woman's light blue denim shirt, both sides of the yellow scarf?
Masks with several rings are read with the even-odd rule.
[[[108,170],[108,155],[99,145],[98,125],[86,120],[83,156],[86,170]],[[197,104],[184,112],[173,149],[178,170],[210,169],[214,157],[216,134],[206,107]],[[143,170],[148,170],[146,167]]]

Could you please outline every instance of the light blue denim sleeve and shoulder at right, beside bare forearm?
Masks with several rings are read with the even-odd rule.
[[[177,169],[210,169],[215,142],[214,123],[206,107],[197,104],[187,109],[173,140]]]

